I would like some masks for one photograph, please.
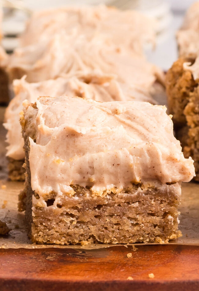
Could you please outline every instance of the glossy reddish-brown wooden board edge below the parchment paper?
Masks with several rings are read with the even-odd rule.
[[[199,247],[1,249],[0,290],[198,291]]]

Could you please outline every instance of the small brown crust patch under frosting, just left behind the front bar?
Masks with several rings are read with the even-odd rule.
[[[8,157],[8,178],[11,181],[24,181],[25,169],[24,160],[14,160]]]

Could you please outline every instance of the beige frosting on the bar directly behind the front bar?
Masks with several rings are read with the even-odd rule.
[[[113,75],[79,73],[71,77],[60,77],[56,80],[47,80],[39,83],[28,83],[25,77],[13,81],[15,97],[10,101],[5,113],[4,127],[6,135],[8,157],[15,160],[24,158],[24,141],[21,135],[19,115],[23,110],[22,102],[27,99],[30,103],[36,102],[39,96],[58,97],[61,95],[91,98],[96,101],[139,100],[155,103],[141,88],[119,83]]]

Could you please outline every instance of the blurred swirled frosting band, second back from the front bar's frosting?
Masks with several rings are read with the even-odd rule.
[[[161,71],[155,65],[133,54],[123,45],[107,46],[98,36],[88,42],[86,36],[73,38],[63,31],[42,43],[18,47],[9,59],[7,70],[17,78],[26,74],[29,82],[98,70],[105,74],[115,74],[118,81],[143,86],[147,90],[157,75],[161,76]]]

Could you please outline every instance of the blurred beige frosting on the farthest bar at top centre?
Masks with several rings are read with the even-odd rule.
[[[74,6],[33,13],[20,38],[21,46],[48,40],[59,31],[73,37],[86,35],[103,39],[109,45],[123,44],[138,55],[143,44],[154,43],[156,23],[134,10],[119,10],[105,5]]]

